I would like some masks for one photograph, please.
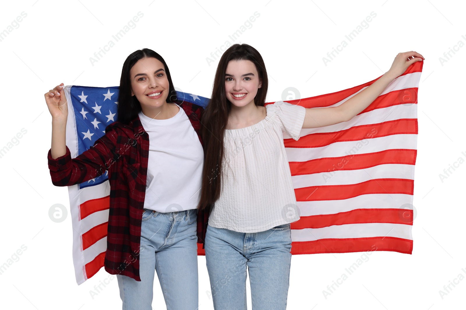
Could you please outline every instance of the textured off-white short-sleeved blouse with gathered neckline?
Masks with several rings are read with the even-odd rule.
[[[298,140],[306,110],[283,101],[259,123],[226,130],[222,188],[209,225],[256,233],[299,220],[283,132]]]

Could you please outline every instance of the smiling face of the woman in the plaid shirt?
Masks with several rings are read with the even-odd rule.
[[[141,109],[158,108],[167,101],[170,83],[164,64],[156,58],[138,60],[130,70],[131,96],[136,96]]]

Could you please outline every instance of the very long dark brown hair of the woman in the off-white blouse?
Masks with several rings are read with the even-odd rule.
[[[256,66],[261,88],[257,90],[254,103],[264,106],[267,95],[267,71],[262,56],[257,49],[247,44],[233,44],[219,60],[215,80],[213,81],[212,96],[201,123],[201,137],[204,142],[204,168],[202,171],[201,197],[198,208],[209,208],[219,199],[221,191],[221,171],[223,159],[223,136],[225,134],[231,103],[226,99],[225,73],[228,62],[232,60],[249,60]]]

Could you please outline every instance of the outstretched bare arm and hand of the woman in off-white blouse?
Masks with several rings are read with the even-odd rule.
[[[365,90],[349,98],[344,103],[337,107],[306,109],[302,128],[317,128],[349,121],[367,108],[370,103],[374,102],[388,84],[402,75],[411,64],[423,60],[424,57],[414,51],[399,53],[395,57],[390,70]]]

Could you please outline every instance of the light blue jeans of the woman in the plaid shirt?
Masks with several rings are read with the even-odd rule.
[[[197,248],[195,209],[171,213],[144,209],[139,252],[141,281],[117,275],[123,310],[152,309],[154,269],[167,310],[197,310]]]

